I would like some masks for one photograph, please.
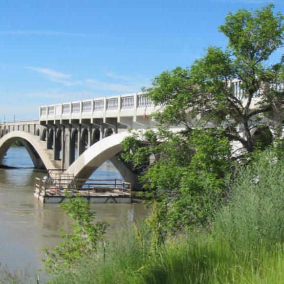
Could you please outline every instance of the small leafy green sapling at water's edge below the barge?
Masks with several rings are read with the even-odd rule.
[[[59,268],[70,268],[76,265],[81,257],[94,253],[98,250],[99,242],[102,241],[106,222],[94,224],[95,212],[90,210],[90,202],[81,196],[73,196],[66,191],[67,202],[61,204],[66,214],[75,220],[72,223],[72,233],[64,233],[61,229],[61,237],[64,239],[58,246],[44,248],[47,257],[43,259],[45,268],[49,273],[56,273]]]

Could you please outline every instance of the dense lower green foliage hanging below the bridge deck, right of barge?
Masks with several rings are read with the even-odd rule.
[[[226,192],[233,163],[231,145],[216,129],[173,134],[166,130],[135,131],[123,141],[126,161],[142,166],[152,155],[140,178],[153,192],[162,210],[164,229],[207,225]]]

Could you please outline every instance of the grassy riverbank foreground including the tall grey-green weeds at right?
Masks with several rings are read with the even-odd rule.
[[[50,282],[284,283],[284,167],[275,158],[266,151],[239,172],[210,232],[168,239],[153,254],[128,224],[105,254],[101,247]],[[144,238],[147,244],[150,236]]]

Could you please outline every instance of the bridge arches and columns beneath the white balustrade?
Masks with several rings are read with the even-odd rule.
[[[268,128],[271,135],[282,129],[277,118]],[[275,127],[274,127],[275,126]],[[12,143],[19,139],[27,148],[36,168],[65,169],[74,177],[86,179],[106,160],[111,160],[126,182],[140,189],[138,172],[118,157],[121,141],[129,128],[155,127],[149,116],[48,119],[0,123],[0,163]],[[177,126],[171,130],[181,130]],[[242,133],[242,128],[238,131]],[[257,128],[251,129],[256,135]],[[283,136],[283,131],[280,136]]]

